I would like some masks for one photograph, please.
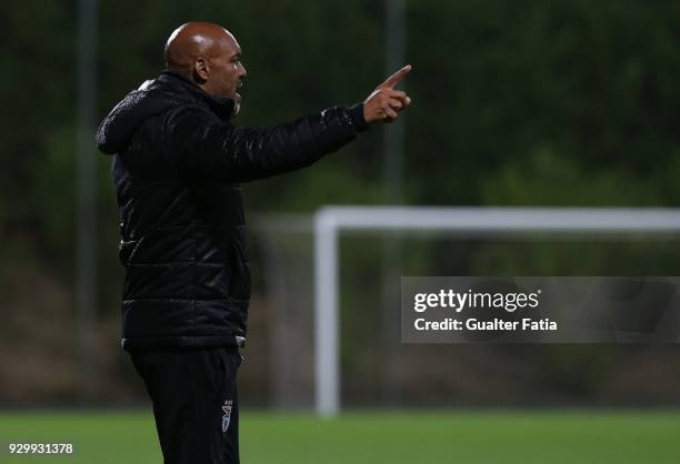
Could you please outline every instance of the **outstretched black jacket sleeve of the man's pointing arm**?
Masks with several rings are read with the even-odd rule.
[[[247,182],[304,168],[367,129],[363,105],[332,107],[269,129],[239,128],[202,109],[173,111],[166,153],[191,176]]]

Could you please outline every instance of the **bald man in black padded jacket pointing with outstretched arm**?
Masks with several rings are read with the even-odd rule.
[[[168,464],[238,463],[236,373],[246,341],[249,261],[239,183],[307,167],[411,100],[394,85],[271,129],[231,123],[246,79],[220,26],[189,22],[166,44],[167,70],[102,121],[113,157],[126,268],[122,346],[151,401]]]

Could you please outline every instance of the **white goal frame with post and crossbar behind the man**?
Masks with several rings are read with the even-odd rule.
[[[316,408],[340,410],[339,234],[341,231],[448,231],[462,234],[668,233],[680,209],[328,206],[314,216]]]

